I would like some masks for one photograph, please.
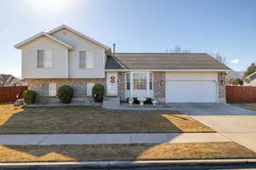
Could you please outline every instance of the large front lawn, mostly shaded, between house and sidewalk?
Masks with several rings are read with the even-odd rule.
[[[114,111],[93,106],[0,107],[0,133],[214,132],[178,111]]]

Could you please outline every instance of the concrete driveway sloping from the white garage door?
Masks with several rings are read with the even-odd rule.
[[[256,151],[256,111],[218,103],[171,103],[168,105],[212,127],[225,138]]]

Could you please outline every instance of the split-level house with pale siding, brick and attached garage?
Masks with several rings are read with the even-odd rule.
[[[112,53],[67,26],[41,32],[15,45],[22,50],[22,77],[39,94],[55,101],[58,88],[70,85],[74,100],[91,99],[96,83],[107,96],[152,97],[160,102],[224,102],[225,71],[208,54]]]

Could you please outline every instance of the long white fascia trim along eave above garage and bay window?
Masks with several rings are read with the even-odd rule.
[[[159,69],[148,69],[148,70],[143,70],[143,69],[105,69],[105,71],[172,71],[172,72],[179,72],[179,71],[182,71],[182,72],[185,72],[185,71],[192,71],[192,72],[197,72],[197,71],[209,71],[209,72],[212,72],[212,71],[231,71],[231,70],[219,70],[219,69],[212,69],[212,70],[209,70],[209,69],[188,69],[188,70],[172,70],[172,69],[163,69],[163,70],[159,70]]]

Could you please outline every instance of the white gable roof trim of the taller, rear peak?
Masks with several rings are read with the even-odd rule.
[[[79,36],[84,37],[85,39],[90,40],[90,42],[96,43],[97,45],[101,46],[102,48],[109,49],[109,47],[107,45],[104,45],[101,42],[97,42],[95,39],[92,39],[91,37],[85,36],[83,33],[79,32],[79,31],[76,31],[73,28],[70,28],[70,27],[68,27],[66,25],[59,26],[59,27],[57,27],[57,28],[55,28],[55,29],[53,29],[51,31],[48,31],[47,33],[48,34],[52,34],[55,31],[60,31],[61,29],[64,29],[64,28],[67,29],[68,31],[73,31],[75,34],[78,34]]]

